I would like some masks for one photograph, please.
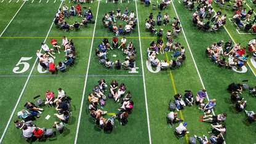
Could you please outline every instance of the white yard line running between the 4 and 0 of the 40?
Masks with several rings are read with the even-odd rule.
[[[137,9],[137,1],[135,1],[136,13],[138,18],[138,9]],[[138,18],[139,21],[139,18]],[[137,23],[138,23],[137,21]],[[140,25],[138,23],[138,40],[140,41]],[[143,86],[144,86],[144,95],[145,95],[145,104],[146,104],[146,120],[148,121],[148,137],[150,138],[151,144],[151,133],[150,133],[150,118],[148,116],[148,102],[146,100],[146,85],[145,85],[145,75],[144,75],[144,66],[143,66],[143,57],[142,57],[142,43],[140,42],[140,59],[142,60],[142,75],[143,75]]]

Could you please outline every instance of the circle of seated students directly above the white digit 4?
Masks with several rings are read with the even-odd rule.
[[[98,48],[95,49],[95,55],[98,57],[98,61],[101,65],[105,65],[106,68],[112,68],[113,65],[115,65],[115,68],[117,70],[121,69],[122,66],[124,66],[124,69],[134,68],[135,61],[137,59],[137,50],[135,49],[134,44],[132,44],[132,41],[129,41],[126,46],[127,40],[125,37],[121,39],[120,46],[118,44],[118,41],[118,38],[114,37],[112,39],[112,46],[110,46],[108,38],[103,39],[103,42],[98,45]],[[122,51],[124,51],[122,55],[128,55],[128,57],[124,58],[123,63],[119,59],[112,62],[109,58],[106,58],[106,55],[109,54],[108,52],[111,51],[110,49],[121,49]]]

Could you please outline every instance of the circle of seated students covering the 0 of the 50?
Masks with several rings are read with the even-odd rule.
[[[70,41],[68,41],[68,38],[66,38],[65,36],[63,36],[62,38],[62,47],[64,49],[65,52],[65,57],[66,60],[65,61],[59,61],[58,65],[56,66],[54,63],[54,60],[52,60],[49,56],[54,57],[54,49],[58,50],[58,54],[60,54],[60,45],[57,43],[56,39],[54,38],[50,38],[51,41],[50,43],[52,44],[52,48],[49,48],[47,46],[47,44],[45,44],[44,42],[42,42],[42,50],[44,50],[45,54],[41,54],[41,52],[39,50],[37,50],[36,55],[38,57],[38,62],[39,65],[42,66],[42,68],[44,68],[47,72],[50,71],[52,73],[56,73],[57,71],[60,70],[60,72],[62,73],[63,71],[66,71],[66,66],[69,66],[70,68],[74,67],[74,60],[76,59],[76,49],[74,47],[74,42],[73,39],[70,39]]]

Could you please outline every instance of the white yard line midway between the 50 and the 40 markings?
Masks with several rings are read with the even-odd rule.
[[[100,7],[100,1],[98,1],[98,7]],[[98,17],[98,8],[97,8],[97,15],[96,15],[95,24],[94,24],[94,34],[95,34],[95,29],[96,29],[96,24],[97,24],[97,17]],[[94,44],[94,34],[92,35],[92,44],[90,45],[90,55],[89,55],[88,66],[87,66],[87,71],[86,71],[86,80],[84,81],[84,91],[82,92],[82,100],[81,100],[80,112],[79,112],[79,117],[78,117],[78,127],[76,128],[76,138],[74,139],[74,144],[76,144],[76,142],[78,140],[78,132],[79,132],[79,126],[80,126],[80,121],[81,121],[81,115],[82,115],[82,107],[84,104],[84,94],[86,92],[86,83],[87,83],[88,71],[89,71],[89,66],[90,66],[90,56],[92,55],[92,47]]]

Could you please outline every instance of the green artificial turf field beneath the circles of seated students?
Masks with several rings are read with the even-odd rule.
[[[200,31],[197,26],[193,25],[192,15],[194,10],[184,9],[183,2],[174,0],[167,9],[161,10],[162,17],[168,13],[169,19],[174,20],[179,18],[182,31],[178,36],[172,36],[174,42],[179,42],[181,46],[185,47],[186,60],[183,65],[177,68],[168,70],[160,70],[152,68],[149,70],[147,64],[146,49],[150,47],[152,41],[158,39],[164,40],[164,45],[167,43],[165,38],[168,30],[172,29],[171,22],[166,26],[154,26],[159,31],[163,29],[162,38],[154,36],[145,28],[145,20],[152,12],[154,19],[158,14],[158,9],[153,9],[152,4],[158,5],[161,1],[152,0],[150,6],[145,6],[140,1],[122,0],[118,4],[113,4],[113,1],[90,1],[81,4],[81,7],[91,7],[93,20],[95,24],[88,23],[87,26],[81,26],[81,30],[73,30],[65,32],[54,25],[54,15],[59,7],[65,4],[70,7],[72,4],[76,6],[73,1],[60,0],[1,0],[0,1],[0,43],[1,54],[0,57],[0,81],[2,82],[0,90],[2,92],[0,99],[0,143],[26,143],[26,138],[21,136],[22,130],[16,129],[14,119],[17,119],[18,111],[25,109],[23,105],[26,101],[36,102],[33,97],[41,95],[45,100],[46,90],[49,89],[55,92],[57,97],[57,90],[62,87],[66,95],[72,98],[71,100],[71,121],[65,125],[66,132],[61,135],[55,128],[55,137],[43,138],[41,141],[33,140],[33,143],[188,143],[189,137],[194,135],[206,135],[212,127],[209,122],[200,122],[199,116],[203,116],[198,106],[185,106],[183,110],[178,112],[177,118],[184,119],[188,122],[187,130],[190,132],[185,137],[177,138],[174,135],[175,127],[180,122],[174,122],[174,126],[166,123],[166,112],[169,100],[174,103],[173,95],[180,93],[185,94],[185,90],[191,90],[194,94],[199,90],[207,90],[207,98],[217,100],[217,106],[212,113],[220,114],[227,113],[228,116],[225,122],[227,127],[226,134],[223,134],[225,143],[255,143],[255,122],[248,125],[244,122],[247,117],[246,113],[234,113],[234,103],[228,103],[227,98],[230,98],[230,93],[226,88],[232,82],[241,83],[242,80],[248,79],[247,84],[254,87],[255,81],[255,61],[248,58],[248,63],[242,68],[247,70],[245,73],[227,69],[226,66],[218,68],[217,64],[211,63],[209,58],[204,55],[206,47],[214,42],[232,40],[233,44],[241,42],[241,47],[246,46],[246,54],[248,51],[247,42],[255,38],[255,34],[242,34],[244,31],[237,30],[233,20],[227,19],[224,28],[216,32]],[[225,7],[230,2],[226,2]],[[230,4],[231,5],[231,4]],[[195,4],[195,7],[198,3]],[[137,49],[137,60],[133,70],[115,70],[113,68],[105,68],[105,65],[100,65],[98,58],[95,56],[95,48],[103,41],[103,38],[108,38],[110,45],[112,45],[112,38],[115,36],[108,28],[105,28],[102,23],[102,18],[106,12],[110,12],[118,7],[121,9],[121,14],[126,7],[129,12],[134,10],[138,18],[137,26],[133,33],[126,34],[127,43],[132,41],[134,47]],[[222,14],[226,14],[227,18],[231,18],[234,12],[231,9],[226,9],[218,6],[215,1],[213,6],[215,12],[222,9]],[[247,1],[244,6],[247,11],[254,7],[252,2]],[[82,10],[87,10],[82,8]],[[250,18],[254,17],[255,14]],[[82,17],[65,18],[70,25],[77,20],[79,23]],[[244,20],[243,20],[244,21]],[[207,20],[203,21],[204,23]],[[117,20],[124,27],[126,22]],[[163,23],[162,23],[163,24]],[[214,23],[210,23],[214,25]],[[36,61],[36,50],[41,49],[41,42],[46,42],[47,46],[52,47],[50,38],[57,40],[58,44],[62,44],[62,37],[66,36],[68,39],[73,39],[74,47],[77,50],[77,57],[74,66],[67,66],[64,73],[57,74],[47,73],[38,67],[39,63]],[[118,36],[119,45],[121,44],[122,34]],[[127,46],[127,44],[126,44]],[[63,47],[58,54],[55,49],[54,60],[55,65],[58,62],[65,62],[65,52]],[[44,52],[42,52],[44,53]],[[164,54],[157,55],[159,60],[176,60],[177,57],[172,58],[173,52],[164,52]],[[122,55],[121,49],[108,50],[106,57],[110,58],[112,62],[121,60],[127,55]],[[222,58],[223,56],[221,56]],[[226,60],[228,57],[226,56]],[[130,73],[135,71],[135,73]],[[127,91],[132,94],[134,101],[134,108],[126,126],[121,126],[117,119],[114,120],[113,131],[104,132],[98,129],[97,125],[90,117],[87,110],[88,93],[92,92],[95,85],[98,85],[99,79],[105,79],[108,88],[113,79],[116,79],[119,84],[123,82],[126,84]],[[110,90],[104,92],[108,95]],[[244,100],[247,100],[247,111],[255,111],[255,97],[248,95],[249,90],[242,92]],[[207,102],[207,100],[204,100]],[[100,107],[100,106],[98,106]],[[47,105],[42,106],[44,111],[39,114],[41,118],[34,121],[38,127],[52,128],[54,121],[60,121],[54,113],[57,111],[54,108],[48,108]],[[103,115],[104,118],[111,118],[113,114],[118,113],[118,102],[107,98],[106,105],[103,106],[103,111],[108,111],[108,114]],[[100,108],[102,109],[102,108]],[[177,110],[175,110],[177,112]],[[50,115],[49,119],[45,119]],[[21,119],[19,119],[21,120]],[[30,142],[31,143],[31,142]],[[199,140],[197,141],[199,143]]]

